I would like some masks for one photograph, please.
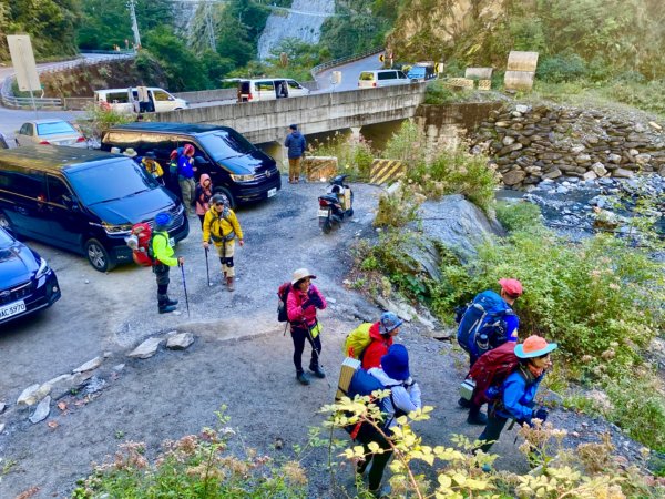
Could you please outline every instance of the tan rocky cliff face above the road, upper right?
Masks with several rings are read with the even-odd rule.
[[[480,41],[504,13],[508,2],[510,0],[408,0],[387,45],[398,58],[408,54],[409,59],[442,60],[446,49],[462,38],[473,34]]]

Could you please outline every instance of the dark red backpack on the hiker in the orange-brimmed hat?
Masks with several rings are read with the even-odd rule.
[[[469,377],[475,381],[473,403],[481,406],[501,396],[501,387],[508,376],[516,370],[520,360],[515,355],[515,343],[503,345],[483,354],[471,367]]]

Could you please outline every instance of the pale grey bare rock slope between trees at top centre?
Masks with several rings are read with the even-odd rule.
[[[258,58],[266,59],[270,50],[286,38],[318,43],[321,26],[335,12],[335,0],[294,0],[290,10],[274,11],[258,40]]]

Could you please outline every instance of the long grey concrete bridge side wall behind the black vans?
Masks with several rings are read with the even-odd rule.
[[[185,109],[151,116],[154,121],[232,126],[256,144],[282,142],[297,123],[305,134],[351,129],[413,118],[426,83],[319,93],[301,98]]]

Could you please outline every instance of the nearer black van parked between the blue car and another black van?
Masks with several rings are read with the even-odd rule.
[[[88,256],[100,272],[132,261],[124,238],[160,212],[184,240],[182,203],[134,161],[120,154],[54,145],[0,151],[0,225]]]

